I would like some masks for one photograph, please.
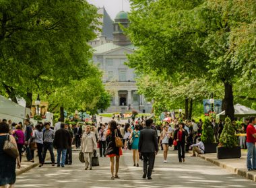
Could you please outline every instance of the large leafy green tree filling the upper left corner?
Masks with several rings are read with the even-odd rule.
[[[82,79],[98,14],[87,1],[0,1],[0,91],[24,97]]]

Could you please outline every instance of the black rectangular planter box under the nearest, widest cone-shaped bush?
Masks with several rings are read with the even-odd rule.
[[[241,147],[236,146],[234,148],[217,147],[217,158],[241,158]]]

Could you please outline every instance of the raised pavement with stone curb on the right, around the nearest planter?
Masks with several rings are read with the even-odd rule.
[[[199,157],[216,164],[230,173],[241,175],[256,182],[256,171],[247,171],[247,152],[242,151],[241,158],[218,159],[216,153],[199,154]]]

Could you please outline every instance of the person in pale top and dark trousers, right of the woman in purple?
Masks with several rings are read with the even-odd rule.
[[[43,165],[43,162],[42,162],[42,147],[44,146],[44,140],[43,140],[42,128],[41,128],[40,124],[36,125],[36,129],[33,132],[32,138],[34,138],[34,142],[36,142],[36,146],[37,146],[39,167],[42,167],[42,165]]]

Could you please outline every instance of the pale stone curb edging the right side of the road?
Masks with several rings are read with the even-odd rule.
[[[189,151],[189,153],[192,154],[191,151]],[[215,164],[218,167],[221,167],[222,169],[226,169],[227,171],[229,171],[230,173],[234,173],[236,175],[240,175],[241,177],[245,177],[247,179],[251,179],[252,181],[256,182],[256,173],[253,173],[251,171],[247,171],[247,169],[241,169],[241,168],[235,168],[232,167],[230,165],[225,164],[224,162],[220,162],[217,158],[213,159],[213,158],[208,158],[207,156],[205,156],[204,154],[199,154],[198,155],[200,158],[203,158],[204,160],[207,160],[209,162],[212,162],[213,164]],[[255,171],[254,171],[255,172]]]

